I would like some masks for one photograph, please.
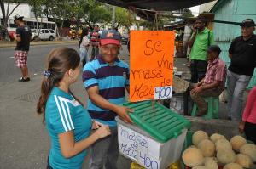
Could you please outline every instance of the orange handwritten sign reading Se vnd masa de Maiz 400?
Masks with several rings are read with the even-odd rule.
[[[174,37],[172,31],[131,31],[131,102],[172,97]]]

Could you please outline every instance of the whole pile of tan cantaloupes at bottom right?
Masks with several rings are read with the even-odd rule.
[[[192,144],[183,151],[182,160],[190,169],[256,169],[256,145],[239,135],[230,141],[223,135],[204,131],[192,135]]]

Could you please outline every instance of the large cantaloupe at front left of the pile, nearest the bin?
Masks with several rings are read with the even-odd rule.
[[[204,157],[201,154],[201,150],[196,148],[186,149],[183,152],[182,159],[184,164],[190,167],[201,166],[204,162]]]

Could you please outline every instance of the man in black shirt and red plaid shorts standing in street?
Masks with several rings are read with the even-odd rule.
[[[19,82],[28,82],[30,78],[28,76],[27,69],[27,54],[29,51],[31,31],[23,21],[23,16],[19,14],[15,15],[15,24],[18,25],[16,29],[15,40],[17,42],[15,48],[15,62],[18,67],[20,67],[22,76]]]

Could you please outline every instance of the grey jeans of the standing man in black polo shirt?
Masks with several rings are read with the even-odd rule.
[[[235,121],[241,121],[241,108],[243,93],[250,82],[251,76],[238,75],[228,70],[227,92],[229,104],[229,117]]]

